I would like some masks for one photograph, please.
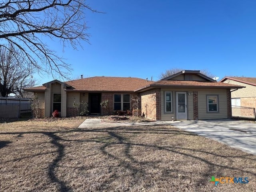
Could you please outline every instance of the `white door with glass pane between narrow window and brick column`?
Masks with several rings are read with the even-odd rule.
[[[187,93],[176,92],[176,116],[177,120],[187,120]]]

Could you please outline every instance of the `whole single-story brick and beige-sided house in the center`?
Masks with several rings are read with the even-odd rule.
[[[200,71],[183,70],[151,82],[140,78],[91,77],[68,82],[54,80],[26,88],[40,98],[40,112],[49,117],[59,110],[62,117],[77,116],[73,102],[88,102],[89,114],[112,114],[130,110],[132,96],[139,96],[139,108],[154,120],[197,120],[231,118],[230,89],[243,86],[216,82]],[[108,100],[109,109],[100,107]]]

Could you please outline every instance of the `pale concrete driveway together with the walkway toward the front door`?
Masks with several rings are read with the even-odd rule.
[[[162,122],[108,122],[86,119],[78,128],[172,125],[256,155],[256,123],[239,120],[192,120]],[[221,149],[220,149],[221,150]]]

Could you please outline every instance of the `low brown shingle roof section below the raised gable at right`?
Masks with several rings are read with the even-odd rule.
[[[150,85],[139,88],[136,91],[143,90],[149,87],[186,87],[186,88],[243,88],[243,86],[227,84],[222,82],[198,82],[198,81],[172,81],[172,80],[160,80]]]

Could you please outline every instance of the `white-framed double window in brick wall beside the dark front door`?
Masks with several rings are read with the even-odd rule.
[[[114,111],[126,111],[130,108],[130,94],[114,94]]]

